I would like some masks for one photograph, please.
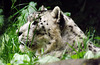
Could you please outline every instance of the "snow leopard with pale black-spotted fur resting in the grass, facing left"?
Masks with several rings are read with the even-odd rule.
[[[83,40],[87,39],[83,31],[68,16],[64,15],[58,6],[53,10],[42,7],[39,12],[34,12],[28,16],[28,22],[20,27],[19,41],[20,48],[24,50],[27,45],[36,54],[53,55],[61,57],[64,50],[71,53],[73,49],[78,49],[78,44],[84,48]],[[88,49],[94,53],[100,51],[91,41],[87,41]],[[69,46],[70,45],[70,46]],[[82,49],[81,49],[82,50]]]

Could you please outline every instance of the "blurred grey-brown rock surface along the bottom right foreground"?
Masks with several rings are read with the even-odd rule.
[[[99,59],[69,59],[43,65],[100,65]]]

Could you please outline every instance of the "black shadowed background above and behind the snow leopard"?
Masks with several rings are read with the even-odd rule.
[[[17,0],[14,5],[29,3],[34,1],[37,8],[41,5],[53,9],[59,6],[63,12],[71,12],[71,17],[78,26],[85,32],[86,30],[96,30],[96,35],[100,35],[100,0]],[[3,9],[5,15],[5,25],[7,28],[7,18],[14,14],[16,10],[11,9],[11,0],[1,0],[0,8]],[[25,5],[17,7],[19,10]]]

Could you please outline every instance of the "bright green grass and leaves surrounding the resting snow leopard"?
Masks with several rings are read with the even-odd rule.
[[[18,10],[16,8],[16,6],[14,6],[14,4],[12,4],[12,8],[16,9],[17,12],[15,14],[11,15],[9,17],[9,20],[12,19],[15,15],[18,15],[18,16],[15,18],[14,22],[9,25],[9,27],[6,29],[6,32],[2,36],[0,36],[0,60],[2,61],[0,63],[3,63],[3,64],[5,63],[7,65],[11,65],[11,64],[17,65],[17,64],[20,64],[20,62],[18,62],[19,59],[16,57],[20,57],[21,59],[24,58],[24,60],[20,60],[23,62],[21,65],[24,65],[24,64],[35,65],[36,63],[39,63],[40,61],[43,62],[47,59],[50,59],[51,56],[42,58],[41,60],[39,60],[38,57],[35,57],[34,52],[27,51],[25,53],[22,53],[19,49],[20,43],[18,42],[18,36],[16,34],[16,30],[17,30],[17,28],[22,26],[24,23],[26,23],[26,17],[28,16],[28,14],[38,10],[38,9],[36,9],[36,5],[37,5],[36,3],[31,2],[29,5],[26,5],[24,8]],[[90,32],[91,31],[89,31],[87,33],[87,36],[88,36],[87,40],[89,40],[91,37],[91,41],[96,43],[96,45],[98,46],[100,37],[99,36],[94,37],[94,32],[92,34]],[[87,40],[84,40],[84,42],[86,43]],[[83,49],[82,52],[80,52],[80,49],[82,48],[80,44],[78,45],[78,47],[79,47],[78,51],[75,50],[70,44],[69,44],[69,46],[77,54],[70,55],[70,54],[63,53],[61,59],[54,58],[54,57],[52,57],[52,58],[54,58],[55,60],[84,58],[84,55],[86,53],[86,51],[85,51],[86,44],[85,44],[85,48]],[[99,47],[100,47],[100,45],[99,45]],[[16,53],[17,53],[17,56],[15,56]],[[23,56],[25,56],[25,57],[23,57]],[[25,60],[25,58],[27,58],[27,59]],[[11,61],[13,63],[11,63]],[[50,61],[54,61],[54,60],[52,59]]]

